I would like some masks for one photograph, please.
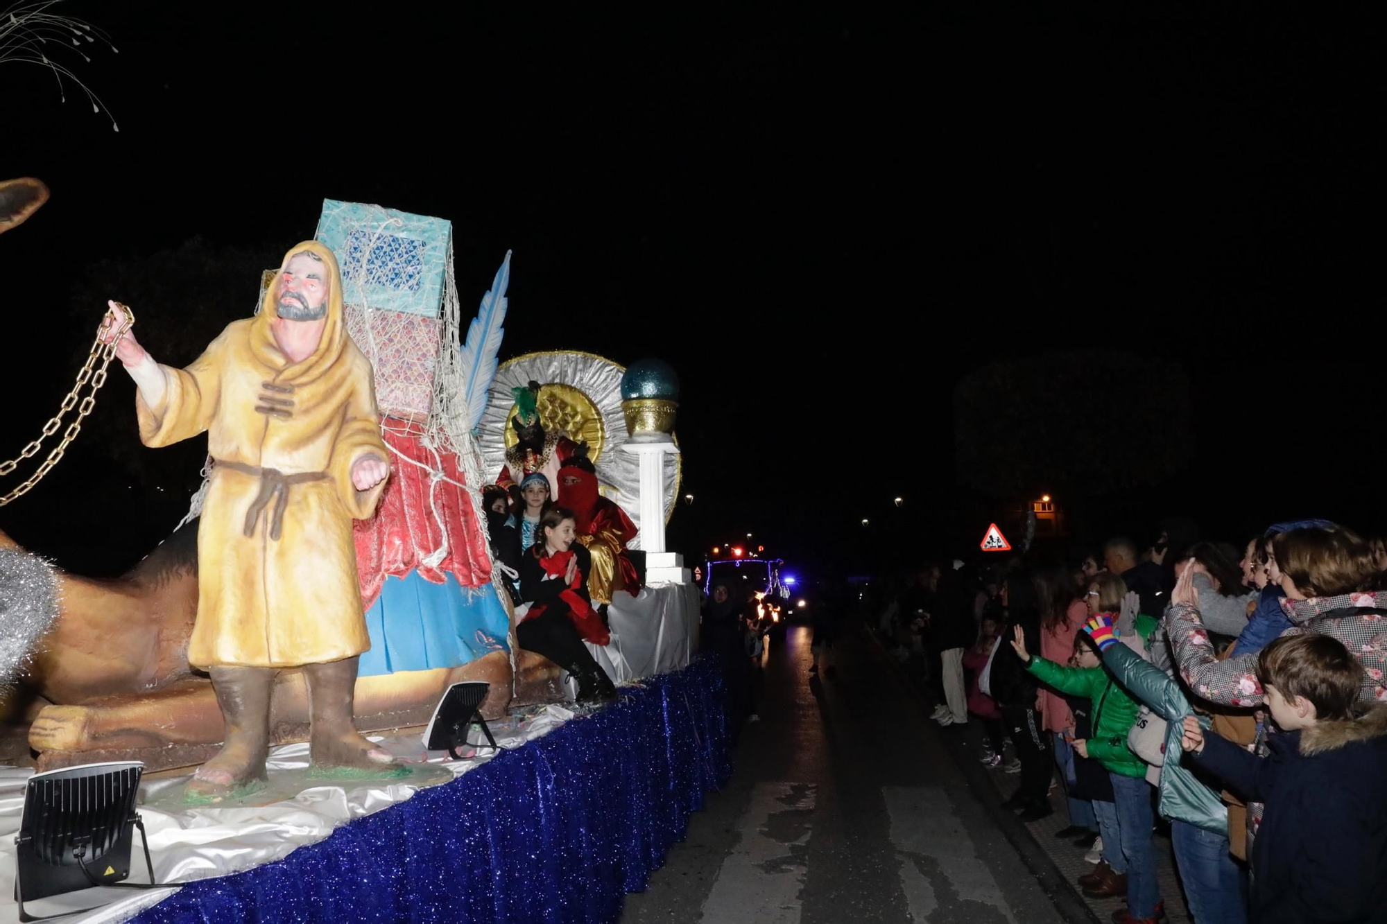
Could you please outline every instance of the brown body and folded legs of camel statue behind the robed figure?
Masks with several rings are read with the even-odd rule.
[[[22,552],[0,533],[0,549]],[[222,713],[205,673],[187,663],[197,613],[197,520],[158,545],[129,573],[97,580],[55,572],[58,612],[11,692],[32,716],[29,746],[40,770],[96,760],[143,760],[147,770],[194,766],[222,741]],[[503,591],[502,601],[509,598]],[[356,680],[355,720],[363,733],[427,724],[451,684],[491,684],[483,715],[512,703],[556,702],[563,690],[552,662],[516,648],[459,667],[398,671]],[[301,671],[276,681],[273,744],[307,741],[308,688]]]

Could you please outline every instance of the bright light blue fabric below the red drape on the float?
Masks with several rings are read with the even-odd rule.
[[[444,584],[417,572],[386,579],[366,610],[370,651],[362,653],[358,676],[458,667],[491,651],[509,651],[510,627],[495,588],[466,588],[452,574],[447,577]]]

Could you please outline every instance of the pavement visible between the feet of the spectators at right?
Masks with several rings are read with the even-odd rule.
[[[921,698],[933,706],[933,695],[928,690],[928,684],[924,680],[924,662],[918,656],[913,656],[910,660],[902,663],[890,652],[884,652],[888,663],[890,663],[896,670],[900,671],[902,677],[915,690]],[[1001,767],[988,769],[981,763],[982,749],[983,749],[983,733],[982,726],[978,721],[970,721],[965,726],[949,726],[939,730],[940,742],[949,749],[953,758],[964,769],[964,773],[970,778],[982,778],[990,781],[996,801],[1000,803],[1003,799],[1008,798],[1015,792],[1017,782],[1019,780],[1015,774],[1006,773]],[[1010,760],[1011,742],[1007,742],[1007,752],[1003,760]],[[1003,763],[1003,766],[1006,766]],[[1111,899],[1090,899],[1083,895],[1079,889],[1076,880],[1093,867],[1083,862],[1083,855],[1087,849],[1080,849],[1074,846],[1072,841],[1057,839],[1054,837],[1056,831],[1069,825],[1069,817],[1065,812],[1065,798],[1064,789],[1058,784],[1058,773],[1056,773],[1056,784],[1050,789],[1050,805],[1054,807],[1054,814],[1039,821],[1022,823],[1017,819],[1018,824],[1022,824],[1025,830],[1035,839],[1036,846],[1054,863],[1060,870],[1064,880],[1074,888],[1074,892],[1079,899],[1089,907],[1089,912],[1097,921],[1107,924],[1111,920],[1112,913],[1126,907],[1126,903],[1121,898]],[[1155,832],[1155,871],[1161,884],[1161,898],[1165,900],[1165,914],[1169,924],[1190,924],[1193,920],[1189,910],[1184,906],[1184,893],[1180,889],[1179,880],[1175,871],[1175,855],[1171,850],[1171,835],[1168,825],[1164,820],[1157,820]]]

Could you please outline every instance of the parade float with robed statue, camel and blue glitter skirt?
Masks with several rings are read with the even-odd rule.
[[[19,221],[42,205],[26,196]],[[269,455],[255,465],[226,458],[225,445],[218,448],[216,416],[226,413],[226,402],[209,405],[204,420],[186,397],[205,402],[207,355],[233,329],[250,332],[252,348],[257,336],[270,343],[264,330],[300,284],[291,279],[300,272],[294,259],[305,254],[323,266],[341,266],[341,291],[330,311],[323,309],[325,341],[338,325],[340,341],[350,339],[370,363],[372,431],[358,430],[355,462],[345,462],[351,474],[337,481],[336,450],[327,450],[323,474],[272,468]],[[140,920],[347,920],[445,910],[454,920],[608,921],[619,913],[621,895],[641,888],[681,837],[703,792],[725,778],[721,681],[706,662],[689,666],[698,591],[681,558],[664,548],[680,480],[677,379],[657,361],[626,369],[577,351],[498,362],[509,273],[506,254],[465,327],[447,221],[325,201],[315,240],[297,246],[259,280],[252,319],[227,327],[187,370],[165,373],[175,377],[175,394],[162,397],[164,405],[182,405],[146,407],[144,386],[135,376],[146,443],[182,438],[182,431],[169,433],[175,413],[183,415],[184,430],[211,426],[203,488],[172,536],[117,580],[68,574],[7,538],[0,542],[0,669],[11,696],[35,703],[28,741],[36,764],[4,767],[0,787],[18,805],[21,796],[32,798],[35,769],[61,773],[74,764],[137,762],[132,766],[146,774],[137,813],[154,880],[178,888],[126,892],[121,900],[111,889],[96,898],[58,895],[29,910],[86,909],[105,900],[90,912],[92,920],[121,920],[147,907]],[[137,323],[133,315],[122,326],[130,323]],[[104,372],[112,350],[98,344],[93,357]],[[316,379],[302,369],[312,368],[322,350],[307,359],[284,358],[286,377],[252,383],[258,394],[250,404],[258,402],[254,412],[265,418],[266,433],[287,426],[293,415],[316,420]],[[350,345],[341,350],[355,355]],[[226,382],[226,394],[234,395],[237,383]],[[187,391],[193,386],[197,391]],[[517,416],[517,388],[531,390],[533,416],[546,431],[530,456],[516,455],[520,438],[508,426]],[[83,409],[90,412],[92,402]],[[345,419],[350,423],[352,413]],[[343,422],[333,418],[323,426],[336,427],[340,444]],[[483,487],[503,480],[508,462],[517,470],[542,469],[545,445],[556,445],[549,437],[559,433],[587,445],[596,493],[634,527],[623,548],[613,549],[634,562],[634,572],[602,601],[610,642],[589,644],[610,680],[623,684],[617,702],[599,709],[571,703],[560,666],[517,647],[516,609],[481,509]],[[388,455],[390,474],[368,484],[356,463],[373,454]],[[294,505],[304,502],[295,498],[315,497],[320,484],[337,484],[331,490],[345,493],[344,504],[358,505],[350,552],[365,624],[362,642],[345,649],[359,653],[351,656],[355,683],[344,702],[348,721],[370,737],[372,759],[381,759],[374,770],[365,751],[361,766],[345,766],[341,752],[329,759],[319,748],[316,723],[331,703],[323,699],[326,674],[315,674],[312,658],[333,655],[305,660],[284,651],[297,635],[269,623],[268,651],[279,653],[259,669],[269,678],[265,721],[273,745],[265,771],[221,788],[189,776],[196,764],[215,766],[219,751],[234,749],[230,730],[241,724],[239,713],[227,712],[241,706],[221,688],[227,670],[216,665],[244,662],[203,653],[205,638],[198,641],[197,627],[211,606],[208,581],[225,587],[232,580],[225,559],[241,541],[239,519],[225,533],[230,538],[215,544],[207,523],[230,529],[226,486],[247,477],[259,487],[244,488],[244,497],[254,497],[244,538],[262,548],[277,548],[279,530],[293,533]],[[42,491],[26,502],[44,502]],[[240,508],[234,513],[240,516]],[[587,538],[617,541],[598,517]],[[311,572],[312,555],[295,558],[300,566]],[[308,579],[311,587],[322,580]],[[273,587],[266,577],[264,588]],[[273,592],[258,592],[273,610]],[[312,599],[320,597],[304,597],[295,612],[311,610]],[[331,662],[331,670],[341,663]],[[454,755],[426,749],[423,726],[440,699],[455,684],[476,681],[488,685],[481,716],[491,720],[499,748]],[[215,774],[209,778],[215,782]],[[251,785],[239,785],[247,781]],[[19,819],[11,823],[18,827]],[[0,880],[12,882],[15,864],[14,848],[0,852]],[[133,870],[133,880],[143,877],[139,864]],[[193,885],[180,888],[186,882]],[[3,881],[0,889],[10,891]]]

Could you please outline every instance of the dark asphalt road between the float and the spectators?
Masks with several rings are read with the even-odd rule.
[[[1072,893],[994,792],[970,784],[871,640],[847,633],[822,680],[809,642],[792,627],[766,653],[761,721],[745,727],[731,782],[621,921],[1076,920],[1062,914]]]

